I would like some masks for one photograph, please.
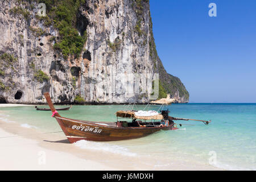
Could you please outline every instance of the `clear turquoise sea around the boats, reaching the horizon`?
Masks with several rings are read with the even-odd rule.
[[[133,109],[143,110],[144,107],[137,105]],[[59,113],[63,117],[76,119],[116,121],[115,111],[126,109],[126,105],[84,105],[73,106],[71,110]],[[155,105],[149,108],[158,109],[159,106]],[[201,122],[177,121],[188,125],[140,139],[82,141],[77,146],[129,156],[175,157],[229,170],[256,170],[256,104],[173,104],[164,109],[169,109],[173,117],[212,119],[212,123],[206,126]],[[23,127],[34,127],[42,132],[60,131],[56,120],[51,118],[51,111],[36,111],[33,106],[2,107],[0,119],[19,123]]]

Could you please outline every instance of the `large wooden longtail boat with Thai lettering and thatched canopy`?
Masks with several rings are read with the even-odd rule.
[[[48,92],[44,93],[44,97],[46,97],[51,108],[52,117],[55,117],[70,143],[78,140],[115,141],[135,139],[160,130],[177,129],[175,123],[168,117],[168,111],[162,111],[162,114],[151,112],[149,116],[136,115],[137,112],[134,110],[118,111],[116,113],[117,118],[121,117],[122,120],[118,121],[117,119],[117,122],[94,122],[64,118],[56,111]],[[132,121],[124,121],[125,118],[131,118]]]

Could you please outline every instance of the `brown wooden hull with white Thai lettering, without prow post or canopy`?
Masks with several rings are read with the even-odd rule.
[[[146,137],[147,135],[160,130],[176,129],[173,125],[164,127],[114,127],[63,117],[55,118],[70,143],[74,143],[79,140],[117,141],[135,139]]]

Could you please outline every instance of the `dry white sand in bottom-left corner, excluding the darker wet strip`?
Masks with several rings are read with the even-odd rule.
[[[92,160],[38,146],[32,139],[16,137],[0,129],[0,170],[105,170],[112,169]],[[3,139],[4,138],[4,139]],[[114,169],[114,168],[113,168]]]

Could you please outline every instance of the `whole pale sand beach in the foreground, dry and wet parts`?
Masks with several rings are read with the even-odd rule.
[[[56,134],[0,121],[0,170],[220,170],[212,166],[83,150]],[[9,132],[7,132],[9,131]]]

